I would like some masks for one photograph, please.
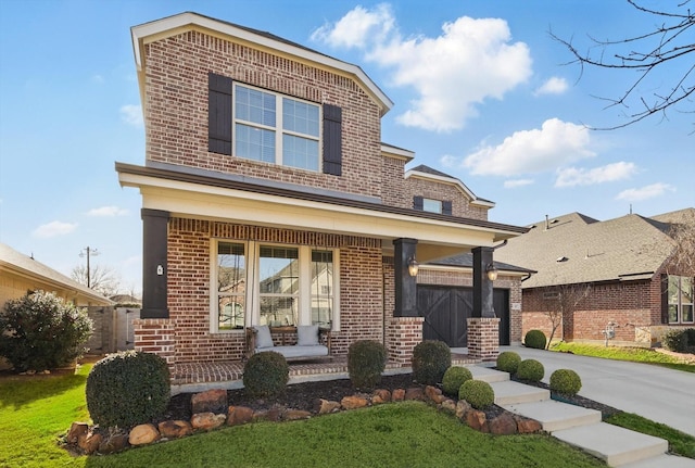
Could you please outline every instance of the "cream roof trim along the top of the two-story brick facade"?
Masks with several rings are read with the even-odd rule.
[[[178,35],[187,30],[202,30],[213,36],[251,43],[261,49],[269,49],[276,53],[291,55],[299,61],[308,61],[318,66],[331,68],[338,74],[352,77],[355,81],[364,86],[365,90],[381,107],[381,115],[384,115],[393,107],[393,102],[389,97],[357,65],[323,54],[270,33],[240,26],[193,12],[179,13],[130,28],[141,96],[143,96],[144,89],[144,46],[149,42]]]

